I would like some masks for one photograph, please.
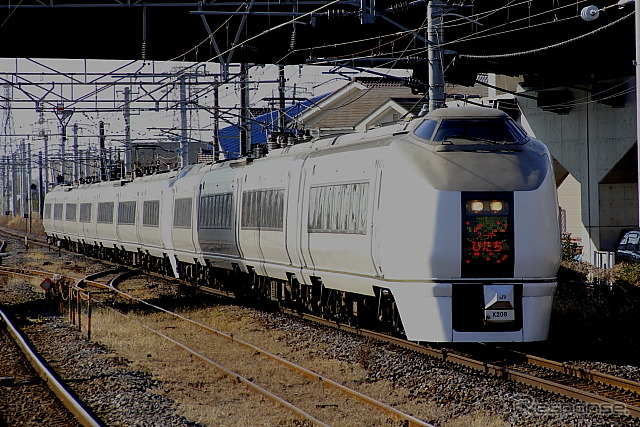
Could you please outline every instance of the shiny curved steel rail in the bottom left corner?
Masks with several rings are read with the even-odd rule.
[[[80,424],[85,427],[100,427],[103,426],[95,415],[91,413],[91,410],[80,402],[72,392],[57,378],[57,376],[51,372],[40,356],[36,353],[33,347],[27,342],[26,338],[18,328],[9,320],[9,317],[0,310],[0,317],[4,327],[7,328],[16,344],[22,350],[25,357],[29,360],[29,363],[33,369],[38,373],[40,378],[47,384],[49,389],[58,397],[60,402],[65,408],[71,412]]]

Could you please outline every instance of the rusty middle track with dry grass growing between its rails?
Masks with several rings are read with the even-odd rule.
[[[165,329],[170,328],[172,330],[171,336],[149,324],[141,323],[141,326],[187,352],[190,356],[198,358],[227,376],[234,378],[239,384],[249,388],[254,393],[258,393],[262,397],[288,409],[304,421],[308,421],[313,425],[329,426],[339,425],[345,419],[366,418],[373,424],[384,424],[388,423],[389,419],[396,419],[407,426],[426,427],[431,425],[299,364],[277,356],[264,348],[119,290],[118,284],[130,277],[132,275],[131,271],[108,271],[102,276],[112,275],[114,277],[110,277],[106,282],[104,280],[96,281],[99,275],[93,275],[82,279],[79,283],[83,286],[111,289],[123,298],[152,308],[170,316],[173,320],[178,320],[182,326],[177,326],[173,323],[167,326],[163,323]],[[119,313],[123,317],[129,317],[125,313]],[[135,321],[140,323],[138,320]],[[174,338],[176,336],[180,338]],[[229,346],[233,346],[235,349],[229,348],[224,352],[220,351],[221,348],[228,348]],[[225,358],[221,353],[231,354],[232,356],[231,358]],[[219,359],[225,359],[224,364],[218,362]],[[287,372],[277,373],[283,369]],[[267,376],[281,375],[283,378],[287,378],[287,383],[283,384],[283,387],[278,390],[268,389],[267,386],[260,385],[260,383],[273,384],[273,382],[260,378],[264,376],[264,373]],[[299,377],[299,379],[296,379],[295,376]],[[346,398],[337,397],[335,391]],[[318,402],[318,399],[324,399],[325,403]]]

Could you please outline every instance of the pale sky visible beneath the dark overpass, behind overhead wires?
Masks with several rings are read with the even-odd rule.
[[[286,66],[286,96],[311,98],[329,93],[357,74],[345,69],[342,71],[346,74],[332,74],[331,69]],[[167,74],[184,70],[193,76],[188,80],[192,82],[187,86],[188,99],[204,107],[188,115],[190,137],[211,140],[213,82],[222,78],[216,63],[0,58],[0,78],[5,83],[0,92],[3,105],[0,155],[16,151],[24,141],[31,144],[35,156],[43,149],[43,135],[47,135],[49,153],[55,157],[56,152],[60,152],[63,125],[68,138],[66,147],[70,147],[74,125],[77,125],[81,150],[87,145],[97,146],[100,122],[104,123],[107,147],[121,147],[125,130],[122,108],[125,87],[129,88],[130,99],[134,101],[130,116],[132,140],[152,142],[176,137],[182,129],[177,108],[180,88]],[[229,72],[237,73],[239,67],[232,66]],[[134,78],[134,74],[138,77]],[[393,74],[404,76],[406,71]],[[265,98],[278,96],[277,77],[277,66],[250,69],[252,107],[267,107],[269,102]],[[199,84],[195,84],[196,81]],[[233,110],[240,106],[237,80],[219,87],[219,105],[232,109],[225,114],[220,126],[237,123],[238,111]],[[66,147],[65,153],[70,150]]]

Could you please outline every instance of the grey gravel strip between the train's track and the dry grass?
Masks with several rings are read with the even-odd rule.
[[[409,406],[432,402],[442,408],[439,419],[425,419],[447,425],[464,415],[485,412],[497,415],[504,425],[640,426],[640,420],[611,414],[608,408],[555,396],[509,381],[500,381],[481,372],[450,362],[417,355],[404,349],[371,342],[342,332],[279,315],[257,314],[265,323],[290,335],[289,345],[310,351],[318,343],[327,344],[318,357],[335,358],[366,366],[366,381],[388,380],[407,391]],[[328,350],[327,350],[328,349]],[[637,370],[637,368],[635,368]]]

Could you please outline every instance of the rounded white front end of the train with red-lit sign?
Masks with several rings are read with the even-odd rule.
[[[380,236],[387,248],[380,259],[386,277],[402,279],[388,281],[388,288],[407,338],[547,339],[561,257],[547,148],[489,108],[436,110],[408,137],[423,149],[398,145],[411,160],[385,182],[404,191],[390,191],[381,205],[389,212],[379,216],[403,206],[394,234]],[[398,245],[408,260],[395,266]],[[412,276],[430,279],[418,283]]]

